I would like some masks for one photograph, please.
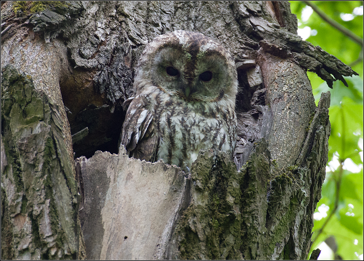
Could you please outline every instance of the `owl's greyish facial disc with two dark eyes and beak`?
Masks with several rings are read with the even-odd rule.
[[[225,91],[228,70],[226,59],[215,52],[191,55],[176,46],[155,55],[149,76],[153,85],[187,102],[216,101]]]

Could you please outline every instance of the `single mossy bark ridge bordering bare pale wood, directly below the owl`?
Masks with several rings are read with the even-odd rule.
[[[240,186],[236,165],[225,153],[201,151],[191,168],[192,202],[172,238],[172,259],[241,259]],[[177,250],[177,249],[176,249]]]

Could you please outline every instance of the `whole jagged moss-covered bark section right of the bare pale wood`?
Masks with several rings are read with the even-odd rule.
[[[305,227],[309,173],[272,167],[264,139],[240,172],[226,155],[201,152],[191,168],[192,202],[174,231],[179,250],[172,258],[299,259],[295,244],[303,246],[305,238],[295,238],[296,228]]]

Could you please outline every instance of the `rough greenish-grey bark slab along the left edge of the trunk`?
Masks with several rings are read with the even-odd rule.
[[[1,257],[76,258],[78,191],[57,107],[29,75],[11,65],[1,73],[1,199],[9,211],[2,216]]]

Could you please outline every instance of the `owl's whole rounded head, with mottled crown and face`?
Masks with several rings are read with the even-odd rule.
[[[149,86],[187,101],[234,101],[237,72],[230,53],[213,39],[174,31],[147,44],[138,61],[134,94]]]

